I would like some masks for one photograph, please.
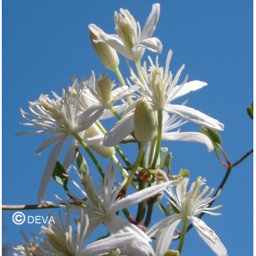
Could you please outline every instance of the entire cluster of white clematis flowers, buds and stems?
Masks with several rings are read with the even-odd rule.
[[[209,188],[206,186],[200,192],[206,179],[199,177],[192,183],[190,191],[186,192],[188,170],[182,169],[179,174],[170,175],[171,154],[166,156],[168,148],[162,148],[161,151],[162,140],[199,142],[205,144],[208,151],[212,151],[214,144],[207,135],[180,132],[179,127],[192,122],[206,127],[207,131],[223,131],[224,126],[213,117],[186,106],[188,101],[173,103],[185,94],[207,86],[207,83],[200,80],[188,81],[186,76],[178,85],[184,65],[175,76],[169,72],[171,50],[165,68],[159,64],[158,56],[155,63],[148,56],[149,69],[147,62],[140,64],[146,49],[159,54],[162,52],[162,42],[152,37],[159,15],[160,4],[153,4],[146,24],[140,31],[139,22],[136,22],[132,14],[120,9],[119,14],[115,12],[116,35],[106,34],[94,24],[89,25],[94,50],[102,64],[116,72],[120,82],[117,83],[118,87],[107,74],[100,74],[96,79],[94,72],[91,72],[89,79],[84,77],[80,82],[72,77],[72,86],[64,88],[62,96],[53,93],[54,99],[50,99],[49,95],[41,94],[39,100],[29,102],[31,112],[21,109],[22,117],[27,121],[22,124],[39,130],[18,135],[51,133],[35,154],[41,154],[46,147],[56,143],[41,177],[39,203],[46,198],[46,188],[51,177],[64,186],[68,195],[67,200],[57,197],[62,204],[47,202],[51,206],[64,208],[66,214],[65,222],[60,214],[60,222],[54,218],[55,222],[49,222],[48,228],[41,227],[40,234],[45,238],[33,234],[35,240],[29,240],[21,231],[25,241],[22,240],[23,245],[13,248],[21,255],[179,255],[188,222],[192,223],[216,255],[228,255],[215,232],[195,216],[201,213],[218,215],[211,210],[219,207],[210,206],[221,191],[210,198],[213,189],[204,198]],[[133,69],[128,64],[131,77],[126,79],[127,84],[118,69],[120,61],[117,52],[134,61]],[[116,118],[117,123],[107,131],[103,122],[109,118]],[[177,131],[171,131],[175,129]],[[61,164],[57,160],[70,137],[72,142]],[[133,164],[120,148],[130,146],[130,143],[139,147],[137,157],[132,159]],[[79,151],[80,147],[86,150],[85,156]],[[106,171],[94,153],[109,158]],[[95,165],[92,172],[89,172],[87,166],[86,159],[89,157]],[[73,171],[67,175],[75,160],[78,167],[74,166],[73,169],[79,175],[81,186],[72,179]],[[94,186],[93,178],[96,169],[102,176],[97,187]],[[118,182],[118,178],[122,178],[122,181]],[[72,180],[72,184],[82,193],[82,198],[76,192],[71,192],[70,188],[67,189],[67,179]],[[135,189],[133,193],[131,184]],[[177,193],[174,191],[175,186]],[[164,198],[169,200],[167,209],[161,202]],[[147,230],[154,203],[162,209],[166,218]],[[133,218],[129,207],[135,205],[138,205],[138,214]],[[121,210],[127,220],[117,215]],[[75,219],[76,230],[72,226],[72,214],[79,215]],[[183,222],[182,231],[177,232],[180,245],[177,251],[169,250],[180,222]],[[109,231],[109,237],[85,245],[87,238],[102,224]],[[152,237],[156,237],[154,245]],[[13,252],[13,255],[19,254]]]

